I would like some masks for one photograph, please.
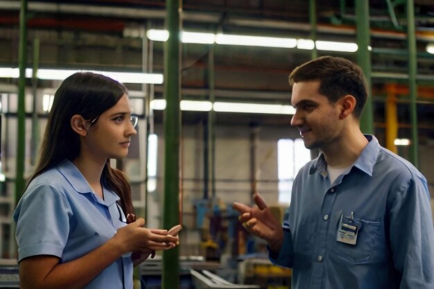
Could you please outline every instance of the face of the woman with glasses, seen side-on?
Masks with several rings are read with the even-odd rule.
[[[93,125],[89,125],[82,149],[102,161],[126,157],[130,139],[137,134],[130,116],[130,100],[124,94],[116,105],[103,112]]]

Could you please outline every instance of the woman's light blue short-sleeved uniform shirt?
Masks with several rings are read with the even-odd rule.
[[[100,247],[125,226],[119,196],[103,188],[98,198],[71,161],[37,176],[14,212],[18,261],[36,255],[58,256],[66,263]],[[86,289],[132,289],[131,254],[117,259]]]

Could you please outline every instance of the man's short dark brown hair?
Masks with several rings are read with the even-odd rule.
[[[353,62],[339,57],[322,56],[296,67],[289,76],[292,87],[296,82],[320,80],[320,94],[331,103],[350,94],[356,98],[354,116],[360,118],[367,99],[367,85],[363,71]]]

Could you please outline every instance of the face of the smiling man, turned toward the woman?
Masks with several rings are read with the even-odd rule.
[[[342,121],[339,119],[339,105],[329,103],[327,96],[320,94],[319,88],[319,80],[293,85],[291,103],[295,114],[291,125],[300,130],[306,148],[322,150],[340,139]]]

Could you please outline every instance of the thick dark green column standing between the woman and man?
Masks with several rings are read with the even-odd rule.
[[[170,229],[179,222],[180,191],[180,15],[179,0],[166,1],[164,43],[164,208],[163,227]],[[179,288],[178,247],[163,252],[162,288]]]

